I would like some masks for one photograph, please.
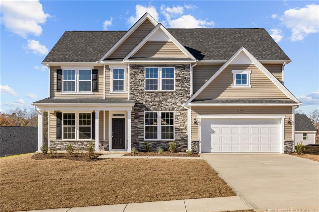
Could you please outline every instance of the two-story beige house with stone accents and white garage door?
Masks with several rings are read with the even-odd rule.
[[[56,150],[292,151],[289,62],[263,28],[166,29],[146,13],[128,31],[66,31],[42,62],[38,146],[48,111]]]

